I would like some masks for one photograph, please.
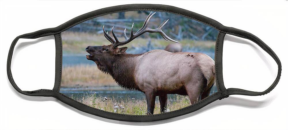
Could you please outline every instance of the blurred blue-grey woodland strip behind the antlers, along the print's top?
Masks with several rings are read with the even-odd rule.
[[[119,37],[123,36],[123,31],[127,27],[126,34],[130,35],[132,23],[134,22],[134,31],[137,31],[137,29],[140,29],[143,26],[143,21],[150,12],[151,11],[141,10],[133,11],[132,13],[118,12],[115,14],[108,14],[106,16],[101,16],[82,22],[69,30],[90,33],[95,33],[96,30],[96,32],[99,34],[103,33],[103,25],[105,25],[106,31],[109,30],[109,32],[111,32],[111,28],[114,26],[114,32]],[[149,24],[149,28],[157,28],[160,23],[167,19],[169,19],[169,22],[166,23],[164,31],[172,39],[177,39],[179,41],[183,39],[216,40],[218,35],[218,31],[213,27],[210,27],[197,20],[169,12],[157,12],[153,16],[153,19]],[[162,39],[162,37],[156,33],[141,35],[141,37]]]

